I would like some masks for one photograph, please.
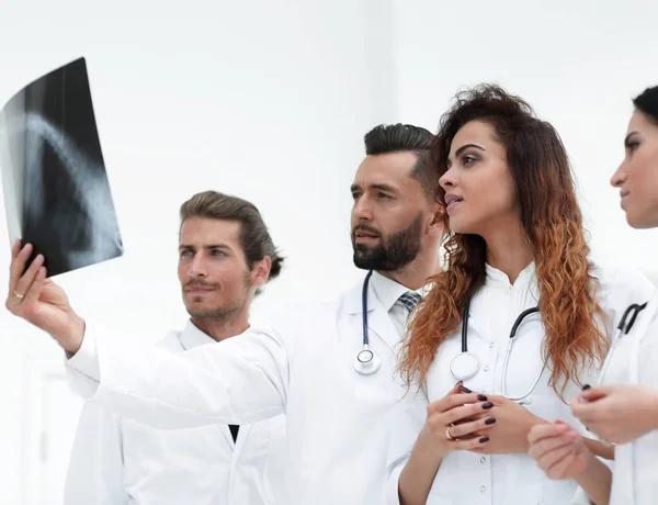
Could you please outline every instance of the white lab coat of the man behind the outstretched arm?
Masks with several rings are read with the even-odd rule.
[[[188,322],[170,352],[214,344]],[[131,350],[124,350],[129,352]],[[283,505],[285,416],[242,425],[150,428],[87,403],[71,450],[66,505]]]

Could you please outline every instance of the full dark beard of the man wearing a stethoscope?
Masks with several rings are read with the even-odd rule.
[[[354,265],[364,270],[396,271],[413,261],[420,251],[422,215],[419,213],[405,229],[387,237],[379,235],[379,244],[375,247],[356,244],[354,234],[358,229],[379,234],[375,228],[367,225],[356,225],[354,227],[352,231]]]

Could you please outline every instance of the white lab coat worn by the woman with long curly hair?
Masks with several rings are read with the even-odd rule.
[[[635,271],[597,268],[594,276],[601,285],[599,303],[610,317],[605,328],[608,335],[612,335],[612,322],[619,322],[628,304],[647,300],[655,291],[653,284]],[[534,263],[521,272],[513,285],[503,272],[487,266],[485,285],[473,296],[468,321],[468,351],[478,358],[479,369],[465,381],[465,386],[485,394],[501,394],[510,330],[521,312],[537,305],[538,296]],[[461,330],[460,325],[436,351],[427,381],[430,403],[445,396],[456,382],[450,372],[450,362],[462,350]],[[530,390],[542,369],[543,339],[544,327],[538,314],[526,317],[519,326],[511,352],[507,394],[521,396]],[[582,383],[593,383],[597,370],[597,367],[582,370],[579,373]],[[572,417],[568,404],[563,403],[548,385],[549,373],[546,368],[524,406],[538,417],[549,422],[563,419],[586,434],[585,427]],[[565,390],[565,400],[568,402],[579,393],[580,388],[571,382]],[[424,404],[407,407],[406,412],[398,411],[396,424],[401,426],[406,422],[409,427],[398,428],[392,435],[389,504],[399,504],[399,474],[426,422],[427,406],[426,401]],[[572,481],[549,480],[526,453],[488,456],[455,451],[443,458],[427,504],[566,505],[579,503],[576,500],[577,487]]]

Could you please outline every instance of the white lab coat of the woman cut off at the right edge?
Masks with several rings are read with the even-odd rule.
[[[628,303],[631,305],[633,301]],[[643,303],[635,300],[635,303]],[[610,355],[602,384],[639,384],[658,389],[658,294],[655,294],[627,335]],[[658,431],[614,449],[610,505],[658,503]]]

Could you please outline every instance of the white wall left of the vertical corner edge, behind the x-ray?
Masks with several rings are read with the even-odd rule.
[[[131,325],[145,339],[184,324],[178,209],[197,191],[238,194],[261,209],[287,256],[266,300],[333,299],[358,281],[350,183],[364,133],[393,115],[390,18],[378,1],[184,5],[0,0],[2,103],[32,79],[87,57],[126,254],[58,282],[86,317]],[[7,266],[4,226],[1,215],[0,265]],[[5,269],[0,272],[5,285]],[[29,385],[24,375],[43,364],[27,366],[23,357],[35,352],[50,354],[61,369],[45,335],[0,311],[1,504],[57,503],[35,494],[43,485],[36,478],[53,481],[66,467],[64,460],[54,465],[54,454],[43,463],[50,473],[39,474],[41,463],[33,463],[41,457],[34,441],[41,405],[50,401],[42,392],[61,396],[38,380]],[[34,408],[24,414],[26,404]],[[67,429],[49,440],[72,436],[76,407],[54,415],[59,420],[43,423]]]

